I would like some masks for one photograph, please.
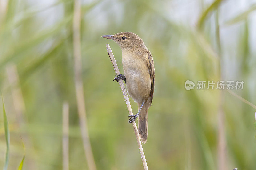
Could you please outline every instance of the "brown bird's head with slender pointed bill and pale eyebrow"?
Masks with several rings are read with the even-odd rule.
[[[103,35],[102,37],[114,40],[121,48],[144,45],[142,39],[132,32],[120,32],[115,35]]]

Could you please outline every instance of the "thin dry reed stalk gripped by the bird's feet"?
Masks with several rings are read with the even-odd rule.
[[[114,70],[115,70],[115,73],[116,75],[120,74],[120,71],[118,69],[118,66],[116,64],[116,60],[115,60],[115,57],[112,53],[112,50],[110,48],[110,46],[108,44],[106,44],[107,46],[107,52],[108,52],[108,55],[109,55],[109,58],[112,62],[112,65],[114,67]],[[128,111],[129,111],[129,114],[130,115],[133,115],[132,113],[132,107],[131,107],[131,104],[130,104],[130,101],[129,101],[129,97],[127,95],[127,92],[126,92],[126,89],[124,87],[124,82],[123,80],[119,80],[119,85],[120,85],[120,88],[123,92],[123,95],[124,95],[124,100],[126,102],[126,105],[127,105],[127,108],[128,108]],[[143,163],[143,166],[144,166],[144,169],[145,170],[148,170],[148,165],[147,165],[147,161],[146,161],[146,158],[145,158],[145,155],[144,155],[144,152],[143,152],[143,148],[142,148],[142,145],[141,145],[141,142],[140,142],[140,136],[139,136],[139,132],[138,132],[138,129],[137,129],[137,126],[136,126],[136,123],[135,121],[132,122],[132,125],[133,125],[133,129],[134,129],[134,133],[135,133],[135,136],[136,136],[136,139],[137,139],[137,143],[139,145],[139,149],[140,149],[140,156],[141,156],[141,159],[142,159],[142,163]]]

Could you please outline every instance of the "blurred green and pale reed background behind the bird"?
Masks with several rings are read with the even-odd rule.
[[[255,169],[255,105],[247,102],[256,103],[255,0],[89,0],[77,7],[72,0],[0,0],[0,88],[10,131],[8,169],[17,169],[23,158],[22,139],[23,169],[63,168],[65,101],[69,169],[89,169],[74,71],[79,14],[78,75],[98,170],[143,169],[124,97],[112,81],[115,73],[106,44],[123,73],[121,49],[101,37],[124,31],[139,35],[155,62],[148,140],[143,144],[148,168]],[[75,48],[80,50],[79,41]],[[186,80],[238,80],[244,86],[232,92],[187,91]],[[131,105],[137,113],[132,99]],[[6,140],[2,111],[0,115],[2,167]]]

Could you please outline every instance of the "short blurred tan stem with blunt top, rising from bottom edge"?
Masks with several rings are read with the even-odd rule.
[[[62,151],[63,151],[63,170],[68,170],[69,158],[68,158],[68,129],[69,129],[69,105],[68,102],[63,103],[62,108]]]

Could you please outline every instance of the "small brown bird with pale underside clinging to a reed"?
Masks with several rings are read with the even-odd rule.
[[[114,80],[124,80],[128,94],[138,104],[139,111],[135,115],[129,115],[131,117],[129,122],[132,123],[139,117],[138,131],[142,143],[146,143],[148,108],[152,103],[155,86],[155,67],[152,55],[142,39],[132,32],[121,32],[102,37],[114,40],[122,49],[124,75],[116,75]]]

